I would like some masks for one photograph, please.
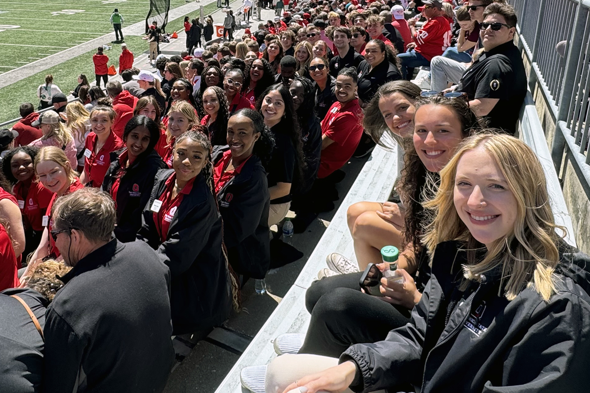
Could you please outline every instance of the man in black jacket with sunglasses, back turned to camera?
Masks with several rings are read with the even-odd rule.
[[[113,238],[113,200],[62,197],[51,235],[73,268],[45,317],[46,392],[161,392],[174,361],[170,273],[143,242]]]

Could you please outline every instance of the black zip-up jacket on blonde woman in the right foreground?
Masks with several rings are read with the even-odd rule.
[[[545,302],[531,286],[509,301],[501,269],[458,290],[461,243],[437,246],[432,276],[411,321],[385,341],[350,346],[340,362],[358,366],[353,391],[412,384],[422,392],[588,392],[590,258],[561,253],[558,292]],[[499,296],[500,293],[500,296]],[[360,370],[360,372],[359,372]]]

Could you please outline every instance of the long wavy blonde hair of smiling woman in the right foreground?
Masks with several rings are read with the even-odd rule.
[[[457,153],[440,172],[441,182],[435,197],[423,204],[435,216],[422,243],[428,248],[431,261],[437,244],[447,240],[466,242],[471,251],[481,246],[458,216],[453,201],[459,160],[464,153],[477,147],[483,147],[500,167],[516,199],[517,213],[512,232],[496,240],[483,260],[475,260],[475,253],[468,252],[468,263],[463,266],[467,280],[462,288],[466,288],[468,281],[477,282],[484,273],[501,267],[500,290],[504,288],[508,300],[534,286],[547,301],[556,292],[554,271],[559,263],[558,243],[566,229],[556,225],[553,219],[545,173],[539,160],[517,138],[478,134],[461,142]],[[563,235],[558,235],[556,229]]]

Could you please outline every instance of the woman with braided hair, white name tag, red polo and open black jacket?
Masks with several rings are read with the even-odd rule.
[[[202,131],[176,138],[172,169],[156,174],[142,222],[137,239],[170,268],[172,334],[198,335],[221,325],[230,315],[232,280],[215,200],[211,143]],[[233,299],[237,305],[237,295]]]

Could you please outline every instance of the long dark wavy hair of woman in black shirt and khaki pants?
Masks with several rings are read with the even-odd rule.
[[[296,163],[293,173],[293,184],[291,186],[291,192],[294,192],[299,186],[303,185],[303,171],[307,167],[305,155],[303,154],[303,143],[301,143],[301,128],[299,127],[297,114],[293,108],[293,97],[291,97],[291,93],[289,93],[289,88],[283,84],[279,83],[268,87],[256,101],[256,110],[260,112],[264,97],[266,97],[271,91],[278,91],[285,103],[285,113],[283,114],[283,118],[281,118],[281,121],[273,127],[271,132],[280,131],[281,133],[286,134],[289,136],[291,143],[295,148]],[[275,154],[276,153],[277,151],[275,151]]]

